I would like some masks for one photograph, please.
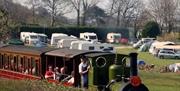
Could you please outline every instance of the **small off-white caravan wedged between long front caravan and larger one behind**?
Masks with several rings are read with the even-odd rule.
[[[57,48],[70,48],[72,41],[77,41],[78,39],[72,38],[72,39],[61,39],[57,43]]]

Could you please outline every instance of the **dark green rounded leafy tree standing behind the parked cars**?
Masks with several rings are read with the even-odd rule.
[[[142,31],[142,37],[156,37],[160,34],[160,28],[157,22],[149,21]]]

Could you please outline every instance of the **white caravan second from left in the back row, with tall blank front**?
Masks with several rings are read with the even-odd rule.
[[[51,46],[57,46],[57,43],[61,39],[76,39],[75,36],[68,36],[63,33],[53,33],[51,36]]]

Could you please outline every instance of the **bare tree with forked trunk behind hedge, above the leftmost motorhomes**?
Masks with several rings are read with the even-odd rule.
[[[55,26],[57,16],[62,16],[71,12],[71,9],[67,10],[69,3],[67,0],[43,0],[44,6],[51,14],[51,26]]]

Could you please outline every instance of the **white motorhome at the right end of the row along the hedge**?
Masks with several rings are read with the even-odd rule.
[[[107,42],[109,43],[120,43],[121,34],[120,33],[108,33]]]

